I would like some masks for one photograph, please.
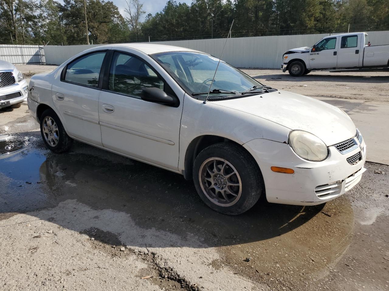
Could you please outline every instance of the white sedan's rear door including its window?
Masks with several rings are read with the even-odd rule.
[[[107,50],[95,51],[69,62],[51,88],[70,137],[102,146],[98,124],[100,71]],[[100,86],[101,87],[101,86]]]

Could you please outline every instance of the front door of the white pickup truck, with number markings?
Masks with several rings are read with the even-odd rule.
[[[312,47],[309,53],[309,64],[312,69],[328,69],[336,67],[337,37],[324,38]]]

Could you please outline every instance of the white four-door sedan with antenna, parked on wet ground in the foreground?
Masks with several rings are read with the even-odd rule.
[[[72,141],[193,179],[214,210],[240,214],[265,195],[314,205],[350,190],[366,146],[337,107],[270,88],[195,50],[104,45],[36,74],[28,107],[53,152]]]

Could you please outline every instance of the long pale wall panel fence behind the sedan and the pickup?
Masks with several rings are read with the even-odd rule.
[[[238,68],[279,68],[282,54],[296,47],[310,47],[328,33],[316,35],[280,35],[231,38],[224,50],[223,60]],[[372,45],[389,44],[389,31],[370,31]],[[169,42],[151,42],[175,45],[200,50],[219,57],[223,50],[224,38],[207,40],[175,40]],[[47,64],[62,64],[75,54],[98,45],[67,45],[44,47]]]

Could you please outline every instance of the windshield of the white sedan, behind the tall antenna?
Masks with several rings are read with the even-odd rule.
[[[211,55],[198,52],[166,52],[154,54],[153,57],[187,93],[200,96],[207,95],[219,61]],[[242,71],[221,61],[211,94],[230,96],[250,89],[263,91],[262,86]]]

